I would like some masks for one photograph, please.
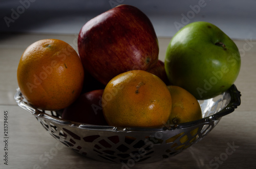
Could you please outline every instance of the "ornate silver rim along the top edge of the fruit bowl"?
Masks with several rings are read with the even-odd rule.
[[[23,97],[22,92],[19,88],[16,89],[17,92],[14,95],[14,99],[19,107],[29,111],[32,115],[37,118],[45,118],[51,123],[57,123],[59,125],[66,125],[69,127],[76,127],[79,129],[88,129],[88,130],[109,130],[109,131],[122,131],[122,132],[161,132],[165,130],[175,130],[175,129],[185,129],[193,126],[198,126],[202,123],[211,122],[213,120],[218,120],[221,117],[230,114],[241,104],[241,92],[237,87],[232,84],[231,87],[226,90],[230,94],[230,102],[219,112],[203,117],[192,122],[181,123],[179,125],[164,125],[159,127],[115,127],[115,126],[100,126],[100,125],[90,125],[84,123],[73,122],[71,120],[61,119],[53,115],[54,111],[50,111],[52,115],[46,113],[44,110],[39,110],[36,107],[27,103],[26,99]],[[200,100],[199,100],[200,101]]]

